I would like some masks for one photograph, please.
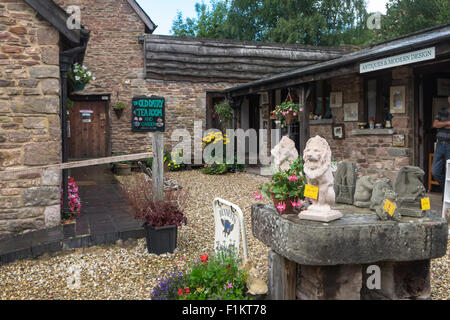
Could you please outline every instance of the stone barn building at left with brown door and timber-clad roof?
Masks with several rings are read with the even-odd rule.
[[[67,27],[64,9],[73,5],[81,9],[81,30]],[[131,131],[133,97],[166,98],[170,143],[174,129],[192,131],[196,120],[213,126],[208,110],[224,89],[344,51],[155,36],[155,28],[134,0],[0,4],[0,238],[60,223],[67,171],[33,168],[147,151],[150,136]],[[83,91],[68,86],[75,62],[97,78]],[[121,118],[112,110],[116,102],[128,106]],[[86,110],[91,122],[81,121]],[[249,112],[242,114],[247,121]]]

